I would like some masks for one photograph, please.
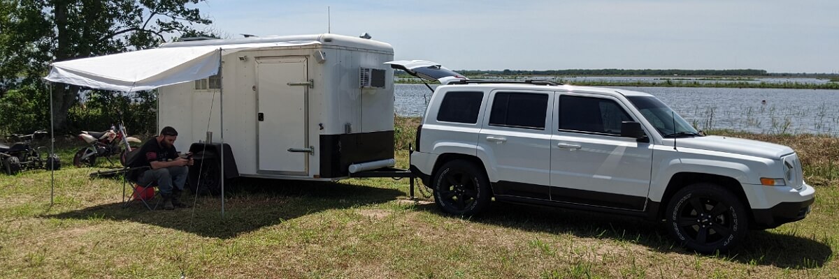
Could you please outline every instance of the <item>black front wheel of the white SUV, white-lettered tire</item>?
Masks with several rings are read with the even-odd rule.
[[[691,184],[676,192],[666,213],[670,237],[703,254],[725,253],[748,232],[743,203],[731,191],[713,183]]]

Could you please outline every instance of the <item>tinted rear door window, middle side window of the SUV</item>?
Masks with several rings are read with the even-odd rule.
[[[489,125],[545,130],[548,95],[498,92],[492,100]]]

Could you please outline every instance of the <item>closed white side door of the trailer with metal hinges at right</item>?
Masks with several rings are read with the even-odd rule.
[[[305,57],[257,59],[259,173],[308,175]]]

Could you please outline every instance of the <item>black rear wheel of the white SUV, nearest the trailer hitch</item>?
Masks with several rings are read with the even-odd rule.
[[[443,164],[432,179],[434,200],[446,213],[472,216],[487,208],[489,179],[483,168],[466,160]]]

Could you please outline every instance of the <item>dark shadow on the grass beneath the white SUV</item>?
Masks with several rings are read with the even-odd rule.
[[[415,208],[446,215],[435,204],[418,204]],[[471,221],[516,230],[626,241],[644,245],[650,251],[695,255],[675,245],[663,224],[636,217],[493,202],[487,212]],[[831,246],[819,240],[753,230],[738,248],[711,257],[752,266],[807,269],[824,266],[832,253]]]

